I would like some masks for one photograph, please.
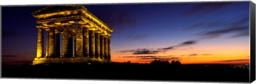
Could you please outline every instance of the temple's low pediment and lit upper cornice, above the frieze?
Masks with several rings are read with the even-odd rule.
[[[75,10],[75,12],[74,12]],[[71,12],[70,12],[71,11]],[[82,5],[64,5],[64,6],[46,6],[43,7],[43,9],[37,10],[33,13],[31,13],[35,18],[37,18],[37,21],[42,24],[41,21],[45,22],[46,20],[49,20],[47,23],[55,23],[54,21],[51,21],[52,19],[58,19],[58,21],[62,22],[69,22],[76,20],[74,17],[68,16],[68,15],[76,15],[77,11],[81,13],[81,16],[86,18],[86,20],[90,20],[93,23],[96,23],[100,27],[104,27],[109,29],[111,32],[114,31],[113,28],[110,28],[105,22],[101,21],[97,16],[93,15],[91,12],[89,12],[86,7]],[[79,15],[80,15],[79,13]],[[72,19],[66,19],[66,17],[71,17]],[[79,17],[79,18],[82,18]],[[74,20],[73,20],[74,19]],[[82,19],[79,19],[82,20]]]

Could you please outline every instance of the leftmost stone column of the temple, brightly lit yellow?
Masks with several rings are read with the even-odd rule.
[[[36,57],[44,57],[44,31],[38,28]]]

